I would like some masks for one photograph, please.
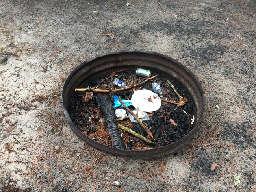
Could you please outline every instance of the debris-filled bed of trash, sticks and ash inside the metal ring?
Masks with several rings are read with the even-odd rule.
[[[189,133],[194,120],[189,92],[176,79],[147,69],[121,70],[85,82],[76,89],[69,114],[91,139],[126,150],[176,142]]]

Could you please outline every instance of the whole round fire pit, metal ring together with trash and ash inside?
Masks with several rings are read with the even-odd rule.
[[[184,65],[143,50],[93,57],[63,88],[65,116],[80,138],[100,150],[146,159],[186,144],[204,102],[200,83]]]

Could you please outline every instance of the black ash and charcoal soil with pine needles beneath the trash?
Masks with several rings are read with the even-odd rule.
[[[129,148],[131,150],[141,150],[166,146],[181,139],[187,133],[189,133],[191,129],[193,129],[191,118],[193,116],[194,103],[189,92],[175,79],[167,77],[164,74],[160,74],[157,71],[152,72],[151,76],[156,74],[158,74],[158,76],[153,80],[161,85],[164,97],[168,98],[170,101],[179,101],[178,96],[173,91],[169,83],[167,83],[167,79],[169,79],[176,90],[180,93],[180,96],[187,98],[187,103],[178,107],[178,105],[161,101],[160,109],[148,114],[150,116],[150,120],[143,121],[145,124],[147,124],[147,127],[150,128],[154,138],[156,139],[154,144],[148,144],[147,142],[134,137],[130,133],[124,133],[122,138],[127,147],[126,149],[128,150]],[[126,85],[130,85],[131,83],[134,84],[135,81],[137,81],[137,83],[145,81],[144,79],[136,76],[135,71],[124,70],[109,74],[108,76],[104,76],[99,79],[103,89],[108,89],[109,87],[112,87],[113,89],[120,88],[113,85],[113,79],[116,77],[123,81]],[[96,79],[95,81],[85,82],[84,87],[87,88],[88,86],[96,88]],[[135,91],[140,89],[148,89],[152,91],[152,81],[147,81],[145,84],[141,85],[141,87],[136,87]],[[133,93],[133,91],[130,91],[130,94],[122,96],[122,99],[130,100]],[[85,96],[85,94],[86,92],[75,92],[72,101],[70,101],[69,114],[72,121],[77,128],[83,132],[83,134],[96,140],[97,142],[111,146],[111,135],[106,131],[106,127],[104,125],[104,115],[96,102],[96,93],[93,93],[93,98],[87,103],[82,101],[82,97]],[[113,95],[109,94],[109,96],[113,100]],[[132,105],[129,106],[129,108],[135,109]],[[117,107],[115,109],[124,108]],[[177,125],[174,126],[171,124],[170,120],[173,120]],[[126,126],[137,133],[150,138],[138,123],[131,123],[129,118],[117,120],[116,122],[117,124]],[[119,132],[122,133],[123,131],[119,130]]]

